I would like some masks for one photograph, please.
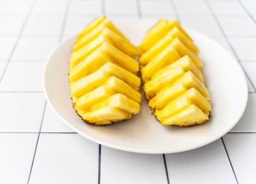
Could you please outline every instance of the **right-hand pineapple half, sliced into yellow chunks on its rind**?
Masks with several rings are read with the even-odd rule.
[[[209,119],[210,95],[199,50],[177,20],[165,18],[139,46],[140,73],[152,115],[165,126],[192,126]]]

